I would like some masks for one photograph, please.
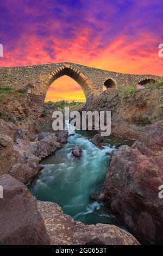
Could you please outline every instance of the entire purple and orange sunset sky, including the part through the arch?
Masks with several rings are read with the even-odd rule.
[[[5,0],[0,3],[0,66],[73,62],[132,74],[163,75],[163,3],[155,0]],[[64,90],[61,89],[64,84]],[[84,100],[61,77],[46,100]]]

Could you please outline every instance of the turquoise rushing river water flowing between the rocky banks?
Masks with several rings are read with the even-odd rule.
[[[110,156],[105,153],[115,150],[115,141],[120,141],[106,138],[104,149],[98,149],[90,141],[93,135],[92,132],[80,132],[69,136],[62,149],[42,161],[45,168],[30,186],[30,191],[38,200],[59,204],[65,214],[85,224],[108,223],[121,227],[103,203],[90,199],[90,194],[99,192],[104,183],[110,164]],[[83,149],[79,159],[71,154],[75,145]]]

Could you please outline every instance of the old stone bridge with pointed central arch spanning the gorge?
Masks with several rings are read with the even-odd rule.
[[[34,102],[43,103],[49,86],[64,75],[73,78],[80,85],[87,102],[93,95],[101,93],[103,87],[106,89],[118,86],[129,87],[133,83],[143,85],[163,80],[163,77],[155,75],[122,74],[64,62],[0,68],[0,87],[27,89]]]

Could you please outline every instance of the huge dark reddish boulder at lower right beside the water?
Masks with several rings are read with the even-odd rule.
[[[137,147],[136,147],[137,146]],[[152,156],[142,143],[123,145],[112,154],[101,192],[126,227],[145,243],[160,243],[163,236],[163,155]]]

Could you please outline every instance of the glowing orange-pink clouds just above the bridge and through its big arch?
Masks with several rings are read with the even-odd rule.
[[[99,28],[103,24],[99,23]],[[51,25],[58,27],[59,24]],[[151,33],[139,36],[118,34],[114,40],[101,43],[101,34],[92,38],[90,27],[80,27],[71,39],[60,40],[53,34],[40,40],[37,34],[23,33],[12,50],[4,47],[1,66],[36,65],[55,62],[73,62],[110,71],[130,74],[155,74],[163,76],[162,61],[158,56],[160,39]],[[85,100],[80,86],[66,76],[49,87],[46,101]]]

